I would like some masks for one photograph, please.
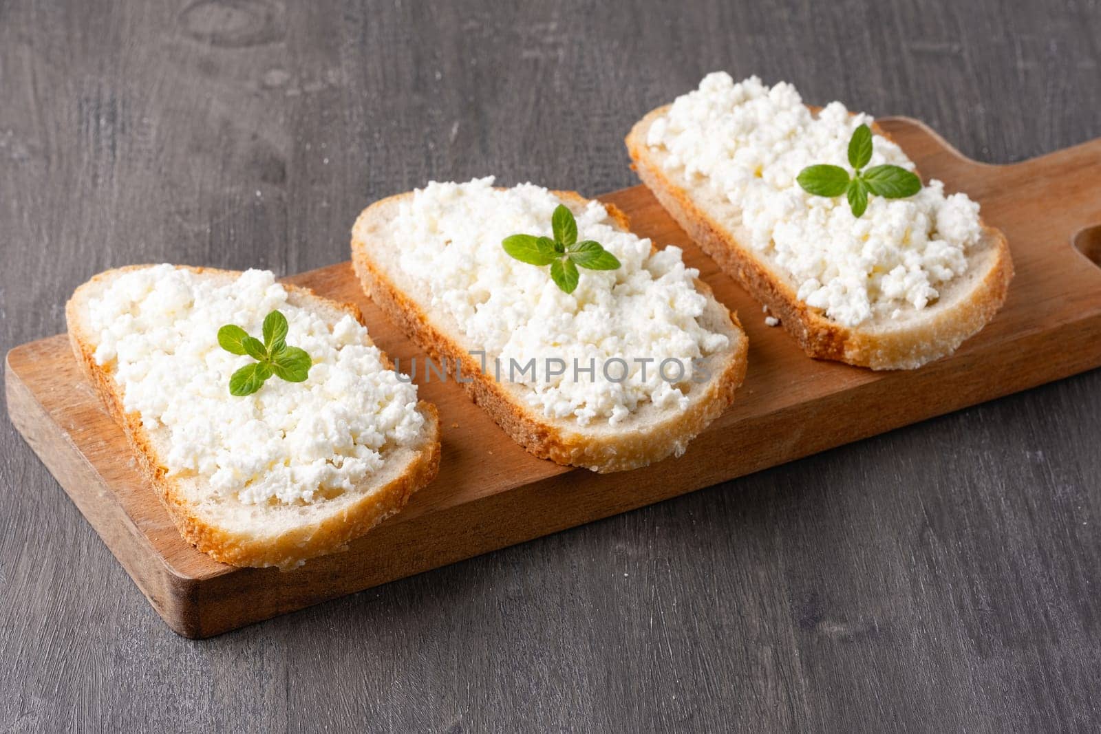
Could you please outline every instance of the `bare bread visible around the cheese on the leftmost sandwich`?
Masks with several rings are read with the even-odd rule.
[[[194,475],[167,476],[162,457],[168,452],[167,429],[146,427],[137,412],[126,413],[111,368],[96,363],[98,335],[89,328],[89,299],[102,294],[121,274],[135,265],[96,275],[73,294],[65,307],[69,342],[77,363],[103,404],[126,431],[138,465],[156,490],[179,534],[215,560],[232,566],[276,566],[291,569],[306,559],[342,550],[384,518],[400,511],[416,490],[436,475],[439,467],[439,421],[436,408],[421,401],[424,416],[419,440],[385,456],[370,482],[337,496],[317,496],[312,503],[243,504],[215,496],[209,484]],[[233,281],[240,273],[203,267],[188,270],[204,277]],[[359,309],[315,295],[308,288],[284,286],[291,305],[318,313],[330,325],[346,315],[362,320]],[[369,342],[369,340],[367,340]],[[383,357],[384,363],[390,362]]]

